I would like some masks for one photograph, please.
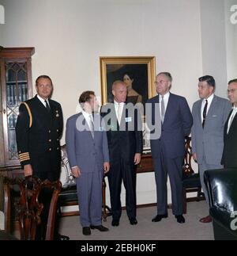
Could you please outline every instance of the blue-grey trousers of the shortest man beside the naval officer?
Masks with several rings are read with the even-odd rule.
[[[81,173],[77,178],[77,197],[82,227],[101,225],[103,171]]]

